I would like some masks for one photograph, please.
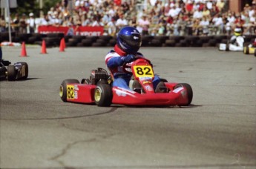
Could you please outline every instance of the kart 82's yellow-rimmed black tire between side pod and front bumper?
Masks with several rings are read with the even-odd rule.
[[[109,107],[112,103],[113,93],[109,84],[98,83],[94,91],[94,101],[99,107]]]

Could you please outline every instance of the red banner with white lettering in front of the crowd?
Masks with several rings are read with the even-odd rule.
[[[104,27],[55,27],[55,26],[39,26],[38,33],[73,33],[80,36],[102,36]]]

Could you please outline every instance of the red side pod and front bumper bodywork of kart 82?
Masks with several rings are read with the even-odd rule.
[[[174,89],[177,83],[165,82],[169,93],[137,93],[119,87],[112,87],[114,105],[186,105],[188,96],[185,87]],[[96,85],[91,84],[68,84],[74,86],[74,99],[67,99],[68,102],[94,103],[94,90]]]

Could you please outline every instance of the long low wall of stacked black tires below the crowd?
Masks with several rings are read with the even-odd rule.
[[[11,33],[12,42],[42,44],[46,47],[59,47],[60,40],[65,38],[67,47],[113,47],[114,36],[65,36],[64,33]],[[246,35],[245,43],[254,42],[256,35]],[[226,43],[230,36],[142,36],[142,47],[217,47]],[[9,42],[8,33],[0,33],[0,42]]]

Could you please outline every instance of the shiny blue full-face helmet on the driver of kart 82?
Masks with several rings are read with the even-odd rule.
[[[135,27],[122,27],[117,34],[116,43],[125,53],[136,54],[141,45],[140,32]]]

